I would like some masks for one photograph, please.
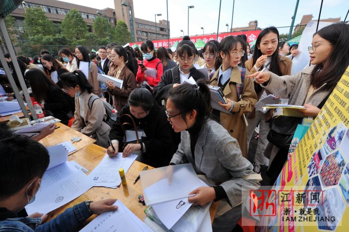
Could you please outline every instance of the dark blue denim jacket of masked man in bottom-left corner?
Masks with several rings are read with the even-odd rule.
[[[43,225],[40,225],[40,217],[4,219],[0,221],[0,232],[71,232],[91,216],[92,214],[87,208],[86,203],[81,202],[72,208],[66,209],[62,214]],[[39,224],[39,226],[36,227],[36,224]]]

